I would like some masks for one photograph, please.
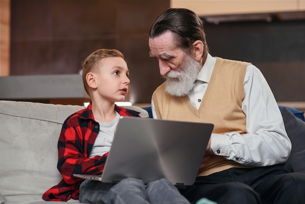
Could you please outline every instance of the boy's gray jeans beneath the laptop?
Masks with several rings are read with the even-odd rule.
[[[85,180],[79,187],[79,202],[94,204],[190,204],[168,180],[144,184],[128,178],[118,184]]]

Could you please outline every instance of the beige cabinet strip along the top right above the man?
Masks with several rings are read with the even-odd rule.
[[[305,10],[305,0],[171,0],[172,8],[188,8],[199,16],[292,12]]]

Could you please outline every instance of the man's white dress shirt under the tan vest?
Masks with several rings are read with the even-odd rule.
[[[208,54],[188,95],[198,109],[210,81],[216,58]],[[267,166],[286,162],[291,142],[287,136],[280,109],[261,71],[252,64],[246,70],[245,99],[242,110],[247,116],[244,136],[237,132],[212,133],[211,150],[216,155],[248,166]],[[152,116],[157,119],[152,100]],[[217,151],[220,150],[220,151]],[[219,152],[219,153],[217,153]]]

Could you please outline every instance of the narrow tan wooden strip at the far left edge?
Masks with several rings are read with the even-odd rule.
[[[10,74],[10,3],[0,0],[0,76]]]

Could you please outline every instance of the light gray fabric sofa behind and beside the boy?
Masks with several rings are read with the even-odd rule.
[[[61,180],[56,166],[62,123],[83,108],[0,101],[0,204],[45,203],[42,194]],[[142,108],[127,108],[148,117]],[[68,202],[79,203],[71,199]]]

